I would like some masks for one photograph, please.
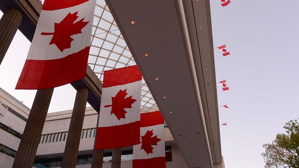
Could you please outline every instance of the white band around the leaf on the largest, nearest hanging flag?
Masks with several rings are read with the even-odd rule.
[[[94,9],[95,0],[89,0],[77,6],[72,6],[65,9],[58,10],[42,10],[39,21],[36,26],[36,31],[28,52],[27,59],[29,60],[52,60],[64,58],[67,55],[76,53],[85,47],[90,46],[90,35],[92,32],[93,13],[90,10]],[[71,42],[71,47],[61,52],[55,44],[49,45],[53,35],[41,35],[42,32],[52,33],[54,30],[54,23],[60,23],[68,13],[75,13],[78,11],[78,18],[75,22],[85,18],[83,21],[89,23],[81,30],[82,33],[72,35],[74,40]],[[74,22],[74,23],[75,23]],[[65,30],[67,31],[67,30]],[[76,47],[74,47],[76,46]],[[40,50],[43,48],[43,50]]]

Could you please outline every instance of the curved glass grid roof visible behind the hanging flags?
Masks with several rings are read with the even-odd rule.
[[[88,65],[103,82],[103,71],[136,65],[104,0],[97,0]],[[142,79],[141,112],[159,110]]]

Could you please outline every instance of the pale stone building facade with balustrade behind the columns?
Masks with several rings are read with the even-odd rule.
[[[0,152],[1,168],[12,167],[13,156],[16,154],[21,141],[20,136],[24,131],[29,112],[30,109],[27,106],[0,88],[0,148],[6,151],[6,153]],[[47,114],[33,167],[61,166],[71,115],[72,110]],[[92,107],[86,108],[76,166],[78,168],[91,167],[97,115]],[[166,124],[164,130],[166,167],[187,168],[185,159]],[[18,134],[20,136],[16,136]],[[122,148],[122,168],[132,167],[132,154],[132,146]],[[103,168],[111,167],[111,159],[112,150],[105,150]],[[214,167],[223,168],[225,167],[224,162],[214,164]]]

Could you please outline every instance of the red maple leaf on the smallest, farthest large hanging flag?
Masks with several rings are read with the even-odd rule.
[[[157,138],[156,136],[153,136],[153,130],[149,131],[144,134],[144,136],[141,136],[141,149],[143,149],[148,155],[149,153],[153,153],[153,147],[152,145],[158,145],[157,143],[161,140]]]

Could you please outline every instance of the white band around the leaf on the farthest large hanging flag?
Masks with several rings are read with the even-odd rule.
[[[142,141],[141,136],[144,136],[147,131],[153,130],[153,136],[157,135],[157,138],[161,139],[157,144],[152,145],[153,153],[149,153],[149,155],[141,149],[141,143],[133,146],[133,159],[150,159],[156,157],[165,157],[165,138],[164,138],[164,124],[149,126],[149,127],[141,127],[140,128],[140,141]],[[153,137],[152,136],[152,137]],[[161,147],[162,146],[162,147]]]

